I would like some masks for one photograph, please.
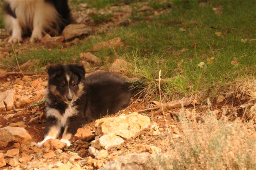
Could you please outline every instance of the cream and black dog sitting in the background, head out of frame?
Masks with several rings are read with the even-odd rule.
[[[68,0],[4,0],[4,23],[12,32],[8,42],[21,42],[22,35],[32,32],[30,42],[42,39],[46,32],[60,33],[72,22]]]

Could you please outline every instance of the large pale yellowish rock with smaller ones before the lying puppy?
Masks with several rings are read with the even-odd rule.
[[[96,120],[95,126],[96,139],[91,142],[89,153],[97,159],[106,155],[105,150],[119,146],[125,140],[132,140],[150,128],[150,118],[133,112],[128,115],[122,114],[116,118]],[[104,151],[100,150],[103,148]]]

